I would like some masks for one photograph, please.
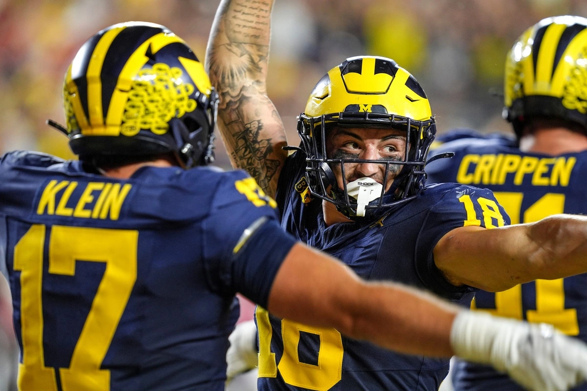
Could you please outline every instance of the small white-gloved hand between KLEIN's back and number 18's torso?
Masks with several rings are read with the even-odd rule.
[[[230,348],[226,353],[228,380],[258,365],[257,327],[254,321],[242,322],[237,325],[228,337]]]

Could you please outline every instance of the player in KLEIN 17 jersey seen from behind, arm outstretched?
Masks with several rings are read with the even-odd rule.
[[[26,151],[0,159],[0,268],[19,389],[223,390],[237,291],[292,319],[290,333],[296,321],[311,325],[308,335],[325,328],[328,341],[336,327],[404,353],[456,353],[536,390],[587,378],[583,344],[364,283],[286,234],[275,201],[245,172],[205,168],[217,95],[163,26],[121,23],[92,36],[63,94],[66,125],[51,124],[79,161]],[[272,363],[276,371],[264,356],[266,371]]]

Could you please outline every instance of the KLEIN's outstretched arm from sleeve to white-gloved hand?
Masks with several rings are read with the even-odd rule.
[[[362,281],[301,243],[276,274],[268,310],[403,353],[491,364],[531,390],[561,391],[587,379],[587,346],[552,326],[458,310],[401,285]]]

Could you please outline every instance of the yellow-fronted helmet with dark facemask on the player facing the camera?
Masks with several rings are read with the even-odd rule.
[[[406,154],[400,161],[332,159],[326,156],[326,135],[333,127],[389,128],[404,131]],[[298,120],[298,134],[306,154],[306,179],[313,196],[332,202],[352,219],[372,217],[382,207],[416,197],[424,188],[424,164],[436,135],[430,103],[418,81],[396,62],[384,57],[361,56],[346,59],[330,69],[316,84],[305,111]],[[332,172],[345,163],[372,162],[385,165],[380,195],[357,213],[357,199],[349,196]],[[387,173],[393,165],[402,168],[387,192]],[[379,187],[378,187],[379,188]],[[362,210],[365,209],[365,210]]]

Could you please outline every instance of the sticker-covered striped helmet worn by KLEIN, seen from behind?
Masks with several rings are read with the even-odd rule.
[[[96,157],[176,155],[189,168],[214,159],[218,96],[203,64],[166,27],[127,22],[92,36],[63,87],[69,145]]]

